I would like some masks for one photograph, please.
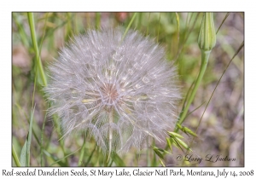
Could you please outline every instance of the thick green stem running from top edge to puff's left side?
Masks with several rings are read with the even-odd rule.
[[[39,55],[39,50],[38,50],[38,42],[37,42],[37,35],[36,35],[36,30],[35,30],[35,23],[34,23],[34,16],[33,13],[27,13],[28,17],[28,22],[29,22],[29,27],[30,27],[30,32],[31,32],[31,37],[32,37],[32,43],[33,43],[33,48],[36,53],[36,59],[38,63],[38,68],[40,72],[40,76],[43,79],[43,84],[44,86],[47,85],[46,77],[44,74],[44,68],[42,66],[42,61]]]

